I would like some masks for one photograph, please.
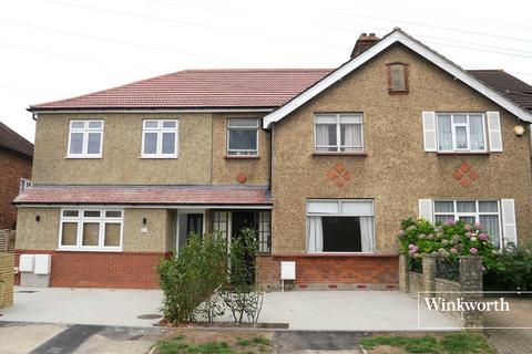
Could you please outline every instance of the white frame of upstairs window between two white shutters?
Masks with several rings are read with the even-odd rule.
[[[440,115],[450,115],[451,116],[451,145],[452,149],[441,149],[440,148],[440,131],[439,131],[439,119]],[[467,122],[466,123],[454,123],[454,115],[464,115]],[[471,148],[471,124],[470,124],[470,116],[471,115],[480,115],[482,119],[482,142],[484,145],[483,149],[472,149]],[[457,127],[466,127],[466,138],[468,140],[467,148],[459,148],[457,146]],[[487,139],[487,121],[485,114],[474,113],[474,112],[436,112],[436,146],[438,153],[487,153],[488,152],[488,139]]]

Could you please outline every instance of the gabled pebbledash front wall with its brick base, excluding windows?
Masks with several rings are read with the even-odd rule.
[[[386,64],[391,62],[409,64],[408,94],[388,93]],[[499,111],[504,150],[454,156],[426,153],[423,111]],[[314,155],[314,115],[342,112],[364,114],[366,155]],[[419,215],[419,199],[515,199],[519,240],[525,242],[532,231],[528,218],[532,190],[530,140],[528,133],[521,137],[513,133],[515,125],[528,128],[413,52],[401,45],[391,46],[274,124],[273,254],[259,260],[259,269],[265,274],[258,279],[263,279],[266,287],[278,287],[276,263],[297,258],[296,287],[299,283],[339,288],[342,283],[397,285],[397,230],[401,219]],[[453,174],[466,162],[479,177],[463,187]],[[335,170],[347,178],[331,178]],[[309,198],[372,199],[375,254],[306,256],[306,200]],[[381,269],[382,264],[386,270]]]

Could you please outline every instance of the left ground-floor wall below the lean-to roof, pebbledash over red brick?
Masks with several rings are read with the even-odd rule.
[[[51,287],[158,288],[153,268],[175,246],[175,210],[124,209],[123,252],[62,251],[59,208],[19,209],[16,263],[22,253],[52,254]],[[35,216],[40,216],[39,221]],[[147,232],[141,232],[142,219]]]

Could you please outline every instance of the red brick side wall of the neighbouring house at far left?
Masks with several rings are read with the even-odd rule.
[[[17,207],[11,201],[19,195],[20,178],[31,179],[32,159],[0,148],[0,229],[14,229]]]

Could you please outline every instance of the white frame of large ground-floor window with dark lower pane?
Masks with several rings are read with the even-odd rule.
[[[326,212],[309,212],[308,211],[308,206],[310,202],[313,201],[319,201],[319,202],[338,202],[338,214],[326,214]],[[371,202],[371,215],[360,215],[360,214],[342,214],[342,204],[344,202],[357,202],[357,201],[361,201],[361,202]],[[310,198],[310,199],[307,199],[306,202],[305,202],[305,242],[307,243],[308,242],[308,239],[309,239],[309,235],[308,235],[308,218],[309,217],[337,217],[337,218],[344,218],[344,217],[371,217],[372,218],[372,230],[374,230],[374,235],[372,235],[372,241],[374,241],[374,249],[370,251],[370,252],[364,252],[364,251],[345,251],[345,252],[341,252],[341,251],[321,251],[321,252],[309,252],[308,251],[308,243],[305,246],[306,247],[306,252],[308,254],[374,254],[376,251],[377,251],[377,237],[376,237],[376,216],[375,216],[375,199],[361,199],[361,198],[358,198],[358,199],[316,199],[316,198]]]

